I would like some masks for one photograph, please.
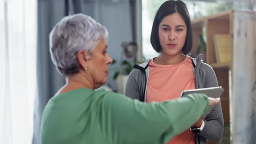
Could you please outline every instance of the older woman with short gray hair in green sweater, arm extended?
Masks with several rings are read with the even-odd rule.
[[[42,144],[165,143],[219,102],[204,94],[189,94],[146,104],[118,93],[95,91],[107,82],[112,63],[107,40],[107,29],[84,14],[64,17],[51,31],[51,58],[66,77],[66,85],[44,109]]]

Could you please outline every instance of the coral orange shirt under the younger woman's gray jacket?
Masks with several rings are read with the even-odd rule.
[[[178,99],[185,89],[195,89],[193,64],[189,56],[174,65],[160,65],[149,62],[149,79],[146,102]],[[189,121],[189,119],[188,119]],[[169,142],[175,144],[195,144],[195,134],[189,129],[174,136]]]

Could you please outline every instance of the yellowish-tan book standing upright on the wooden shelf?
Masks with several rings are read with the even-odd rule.
[[[231,62],[230,34],[214,34],[213,45],[217,63]]]

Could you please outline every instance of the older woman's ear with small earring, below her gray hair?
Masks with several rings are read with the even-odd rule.
[[[86,51],[80,50],[77,52],[77,60],[82,69],[88,69],[88,62],[90,59],[90,54]]]

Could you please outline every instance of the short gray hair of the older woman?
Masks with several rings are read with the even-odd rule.
[[[90,16],[75,14],[64,17],[50,33],[51,59],[57,70],[63,76],[77,74],[80,69],[77,52],[84,50],[91,56],[99,39],[107,41],[108,31]]]

